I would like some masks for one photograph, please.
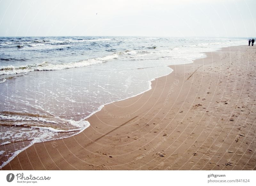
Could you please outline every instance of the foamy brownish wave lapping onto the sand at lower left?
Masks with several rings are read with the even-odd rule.
[[[11,133],[0,133],[0,139],[4,140],[4,143],[1,143],[0,146],[5,145],[4,148],[8,149],[8,145],[12,143],[22,142],[24,144],[24,148],[19,150],[14,149],[14,151],[11,150],[8,152],[8,154],[11,156],[8,156],[8,159],[6,159],[4,162],[2,161],[0,164],[0,169],[9,163],[20,152],[24,151],[35,143],[71,137],[81,133],[84,131],[84,129],[90,126],[88,121],[65,120],[51,115],[39,115],[21,112],[0,112],[0,120],[1,125],[5,124],[11,128],[16,126],[18,129],[11,130]],[[28,120],[27,125],[26,120]],[[52,120],[53,122],[58,122],[59,124],[54,125],[54,123],[51,122],[45,123],[45,120]],[[30,128],[26,129],[27,127]],[[59,133],[62,133],[62,135],[59,135]],[[0,152],[4,153],[2,151]]]

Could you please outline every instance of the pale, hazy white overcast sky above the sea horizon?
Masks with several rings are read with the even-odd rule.
[[[256,0],[0,0],[0,36],[256,37]]]

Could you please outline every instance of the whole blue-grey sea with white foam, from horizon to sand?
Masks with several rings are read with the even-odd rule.
[[[202,52],[245,38],[0,37],[0,168],[34,143],[76,135],[104,105]]]

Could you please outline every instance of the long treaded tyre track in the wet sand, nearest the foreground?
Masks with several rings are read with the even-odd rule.
[[[114,132],[114,131],[117,130],[118,128],[123,127],[125,124],[129,123],[130,121],[134,120],[134,119],[137,118],[137,117],[139,117],[139,116],[133,117],[131,120],[126,121],[126,122],[123,123],[122,125],[120,125],[120,126],[114,128],[113,130],[109,131],[108,133],[104,134],[103,136],[100,136],[99,138],[97,138],[97,139],[93,140],[92,142],[86,144],[84,147],[82,147],[82,148],[76,150],[75,152],[70,153],[70,154],[67,154],[67,155],[65,155],[65,156],[61,156],[61,157],[62,157],[61,159],[58,159],[57,161],[51,163],[51,164],[48,165],[48,166],[45,166],[45,169],[46,169],[46,170],[52,169],[54,166],[57,166],[57,164],[61,163],[63,160],[67,159],[67,158],[70,157],[71,155],[75,155],[76,153],[78,153],[78,152],[84,150],[86,147],[88,147],[88,146],[90,146],[91,144],[97,142],[98,140],[100,140],[101,138],[107,136],[107,135],[110,134],[111,132]],[[58,167],[58,166],[57,166],[57,167]]]

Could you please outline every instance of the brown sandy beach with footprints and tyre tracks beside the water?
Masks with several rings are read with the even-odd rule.
[[[206,53],[2,170],[256,170],[256,48]]]

